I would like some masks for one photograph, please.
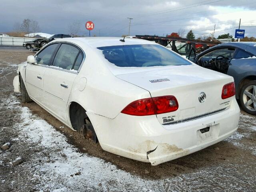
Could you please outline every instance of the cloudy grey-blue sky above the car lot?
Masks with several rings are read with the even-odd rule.
[[[165,36],[182,28],[197,38],[210,36],[216,24],[218,37],[234,36],[241,18],[245,35],[256,37],[256,0],[0,0],[0,5],[0,32],[29,18],[39,22],[40,32],[68,34],[68,24],[76,21],[80,35],[88,35],[84,24],[91,20],[91,35],[121,36],[128,34],[131,17],[130,35]]]

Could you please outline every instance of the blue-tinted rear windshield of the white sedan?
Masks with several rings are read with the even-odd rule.
[[[186,59],[160,45],[98,47],[105,58],[118,67],[190,65]]]

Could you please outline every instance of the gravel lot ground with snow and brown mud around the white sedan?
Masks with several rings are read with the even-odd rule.
[[[84,140],[36,103],[13,93],[17,64],[32,52],[0,46],[0,191],[255,191],[256,118],[188,156],[151,166]]]

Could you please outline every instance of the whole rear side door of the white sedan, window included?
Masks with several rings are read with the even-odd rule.
[[[63,122],[67,122],[67,104],[78,67],[84,58],[82,50],[73,44],[62,43],[52,66],[44,73],[44,98],[48,110]]]

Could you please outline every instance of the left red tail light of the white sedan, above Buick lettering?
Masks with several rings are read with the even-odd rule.
[[[134,116],[146,116],[173,112],[176,111],[178,107],[178,101],[174,96],[160,96],[131,102],[121,113]]]

